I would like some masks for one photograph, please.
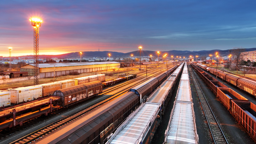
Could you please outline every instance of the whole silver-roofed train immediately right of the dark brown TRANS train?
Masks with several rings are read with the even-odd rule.
[[[180,68],[182,67],[183,64],[180,65]],[[149,96],[147,102],[143,103],[119,126],[106,144],[150,143],[170,99],[171,87],[175,84],[173,78],[174,76],[168,77],[168,80]]]

